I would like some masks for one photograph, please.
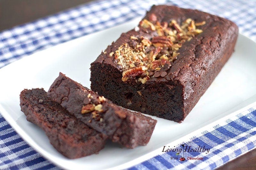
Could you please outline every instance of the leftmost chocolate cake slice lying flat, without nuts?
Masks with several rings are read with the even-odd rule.
[[[59,103],[47,98],[44,89],[23,90],[20,107],[27,120],[42,128],[53,147],[68,158],[91,155],[104,147],[106,135],[70,116]]]

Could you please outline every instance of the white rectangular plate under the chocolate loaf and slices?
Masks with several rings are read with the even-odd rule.
[[[147,146],[126,149],[109,142],[99,154],[73,160],[62,156],[44,131],[28,122],[20,111],[20,92],[37,87],[48,91],[59,72],[90,87],[90,63],[139,19],[48,48],[0,69],[0,113],[28,144],[54,164],[66,169],[128,168],[161,154],[164,145],[178,144],[202,127],[256,101],[256,45],[240,34],[234,54],[183,123],[151,116],[158,122]]]

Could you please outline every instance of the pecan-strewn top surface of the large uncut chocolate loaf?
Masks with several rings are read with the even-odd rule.
[[[237,26],[205,12],[154,5],[139,26],[123,33],[95,62],[116,67],[124,82],[182,80],[184,69],[204,67],[198,63],[225,41],[230,27]]]

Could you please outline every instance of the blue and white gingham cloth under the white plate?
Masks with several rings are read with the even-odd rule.
[[[38,50],[143,16],[153,4],[177,5],[228,18],[236,22],[240,33],[256,41],[254,0],[94,1],[1,32],[0,68]],[[183,141],[194,148],[198,145],[211,148],[208,154],[186,152],[186,157],[203,157],[203,160],[174,161],[170,157],[177,156],[176,153],[165,152],[130,169],[213,169],[256,148],[256,106],[218,123],[190,141]],[[60,169],[31,148],[0,115],[0,169],[22,168]]]

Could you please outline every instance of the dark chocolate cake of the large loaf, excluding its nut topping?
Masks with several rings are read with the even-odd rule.
[[[203,33],[178,50],[180,55],[165,77],[152,77],[145,84],[135,79],[123,82],[120,65],[109,54],[129,42],[131,36],[150,40],[157,36],[156,31],[139,26],[140,31],[123,33],[91,64],[91,89],[119,106],[182,122],[233,53],[238,27],[225,18],[176,6],[154,5],[145,18],[150,20],[152,14],[159,22],[175,19],[180,24],[192,18],[206,24],[199,26]]]

